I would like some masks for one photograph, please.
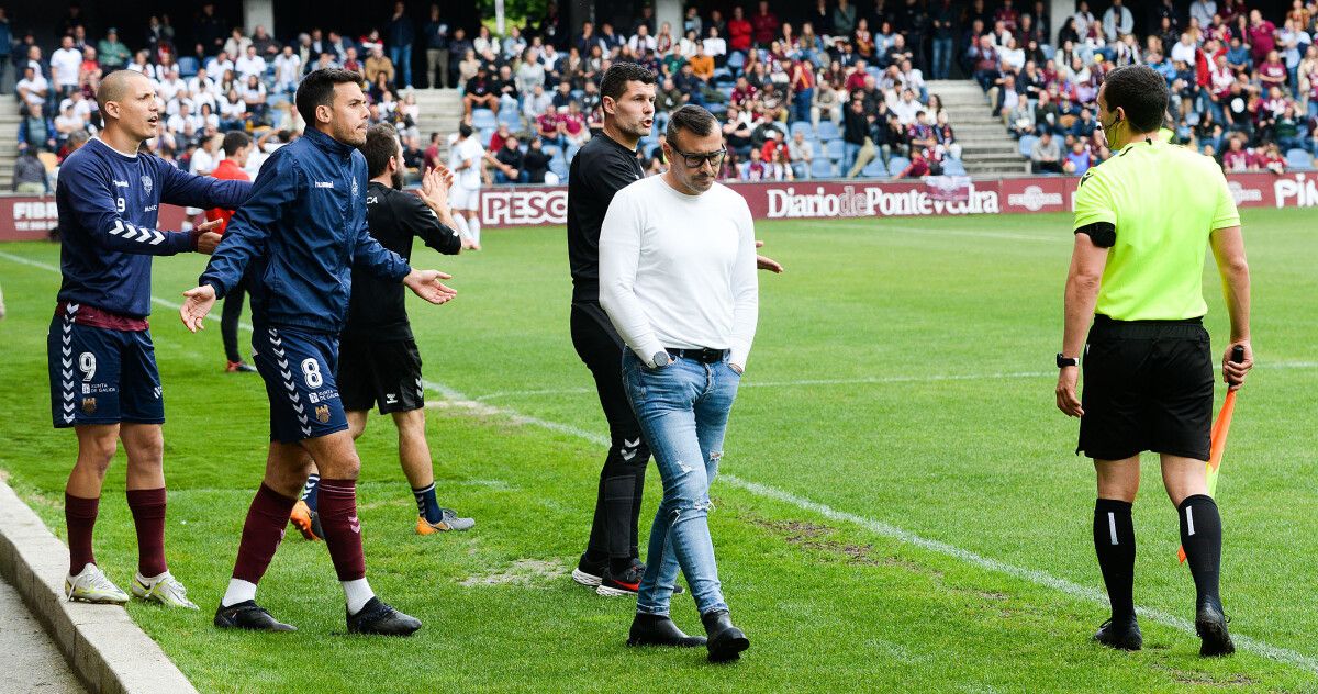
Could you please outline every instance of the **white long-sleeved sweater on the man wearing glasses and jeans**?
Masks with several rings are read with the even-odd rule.
[[[746,367],[759,317],[755,228],[741,195],[664,176],[618,191],[600,230],[600,304],[645,363],[664,348],[731,350]]]

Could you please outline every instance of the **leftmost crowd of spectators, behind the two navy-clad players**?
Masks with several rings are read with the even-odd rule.
[[[395,30],[402,11],[403,4],[397,3],[393,17],[384,24],[386,36]],[[320,67],[360,72],[368,84],[372,122],[398,128],[405,153],[415,165],[414,174],[423,163],[416,128],[420,113],[406,88],[410,70],[395,67],[381,30],[353,38],[315,28],[285,43],[264,26],[250,33],[243,28],[224,32],[214,7],[206,5],[195,21],[212,28],[198,33],[214,38],[188,49],[175,43],[169,16],[152,17],[148,26],[132,32],[140,40],[129,45],[115,26],[103,36],[90,36],[76,5],[69,13],[58,47],[49,50],[30,30],[13,33],[0,8],[0,53],[8,49],[0,55],[0,82],[12,66],[20,104],[21,157],[14,190],[49,190],[34,162],[45,163],[49,173],[99,130],[96,88],[104,74],[120,68],[142,72],[156,86],[161,132],[148,146],[192,173],[208,174],[220,158],[216,150],[224,133],[241,129],[252,133],[257,144],[248,161],[248,173],[254,176],[270,151],[298,137],[302,124],[293,95],[302,76]],[[410,62],[410,57],[403,58]]]

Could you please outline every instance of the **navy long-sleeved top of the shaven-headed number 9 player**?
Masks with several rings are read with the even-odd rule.
[[[92,138],[59,167],[59,300],[146,317],[150,257],[196,250],[199,236],[157,229],[161,203],[235,208],[250,190],[246,182],[194,176],[158,157],[129,157]]]

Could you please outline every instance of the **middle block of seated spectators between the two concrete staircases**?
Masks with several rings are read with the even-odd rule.
[[[548,41],[531,28],[496,37],[482,26],[473,38],[456,29],[445,62],[432,54],[428,71],[453,79],[464,117],[490,151],[502,149],[501,129],[521,136],[523,150],[538,141],[550,151],[551,179],[602,128],[596,82],[616,61],[658,75],[655,134],[641,147],[648,171],[664,166],[667,112],[699,104],[724,124],[728,179],[963,173],[948,115],[925,84],[929,49],[933,74],[948,76],[960,21],[950,3],[934,4],[932,13],[886,12],[883,3],[863,12],[818,0],[787,20],[763,1],[726,17],[688,7],[677,29],[656,26],[646,8],[630,26],[585,22]],[[493,169],[493,179],[506,176]]]

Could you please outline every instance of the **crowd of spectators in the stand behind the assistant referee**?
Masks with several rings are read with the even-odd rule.
[[[1151,30],[1136,33],[1136,11]],[[1037,12],[1037,9],[1036,9]],[[1318,3],[1293,0],[1264,17],[1246,0],[1079,1],[1056,34],[1046,14],[1010,0],[969,17],[962,65],[994,113],[1021,140],[1036,171],[1082,174],[1103,146],[1097,95],[1103,76],[1147,65],[1168,83],[1166,129],[1227,171],[1309,169],[1318,154]]]

